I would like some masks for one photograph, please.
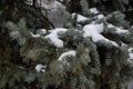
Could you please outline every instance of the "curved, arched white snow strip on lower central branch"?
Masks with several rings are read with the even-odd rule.
[[[62,53],[58,60],[62,61],[65,57],[75,57],[76,51],[75,50],[70,50],[64,53]]]

